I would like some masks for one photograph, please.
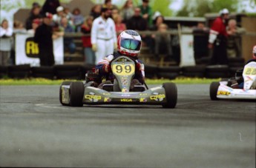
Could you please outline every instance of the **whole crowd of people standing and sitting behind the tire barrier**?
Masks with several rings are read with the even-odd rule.
[[[194,32],[206,33],[204,38],[198,37],[197,43],[194,43],[195,58],[209,56],[209,49],[214,50],[211,64],[227,64],[227,54],[230,57],[240,56],[240,41],[237,40],[237,34],[242,31],[236,26],[234,19],[229,20],[229,24],[225,22],[228,14],[229,11],[227,13],[226,10],[222,10],[220,17],[214,21],[210,29],[201,22],[194,28]],[[157,31],[151,35],[142,34],[142,45],[148,46],[156,60],[159,59],[160,54],[165,54],[167,58],[179,63],[180,56],[177,56],[176,52],[177,49],[179,50],[179,39],[177,36],[171,38],[167,33],[170,27],[165,23],[164,16],[153,15],[149,0],[142,0],[140,6],[135,6],[132,0],[127,0],[120,9],[112,4],[111,0],[105,0],[104,4],[95,4],[89,16],[82,16],[78,7],[70,12],[68,7],[61,6],[59,0],[46,0],[42,7],[35,2],[24,24],[14,21],[12,30],[7,20],[2,21],[0,64],[14,64],[14,58],[10,54],[12,41],[6,38],[12,36],[13,33],[33,34],[35,41],[39,43],[39,49],[42,47],[44,50],[44,53],[39,54],[40,64],[51,66],[54,64],[51,45],[54,38],[63,36],[65,51],[73,54],[76,53],[76,44],[73,38],[65,36],[65,33],[84,33],[82,46],[85,63],[96,64],[102,57],[113,53],[117,47],[116,35],[118,36],[124,30]],[[208,44],[207,35],[209,35],[209,46],[202,47]],[[47,40],[42,36],[48,37]],[[223,55],[223,53],[226,54]]]

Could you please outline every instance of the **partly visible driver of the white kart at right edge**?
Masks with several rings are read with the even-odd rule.
[[[246,64],[249,64],[249,62],[255,61],[256,62],[256,45],[252,48],[252,59],[246,62]],[[239,73],[239,75],[237,75]],[[234,89],[243,89],[243,69],[237,70],[237,73],[235,75],[235,82],[232,82],[234,84],[231,85]]]

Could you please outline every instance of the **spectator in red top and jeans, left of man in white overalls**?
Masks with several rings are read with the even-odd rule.
[[[93,25],[93,16],[88,16],[82,24],[81,32],[91,34],[91,27]],[[91,49],[91,36],[82,36],[82,44],[85,51],[85,62],[87,64],[95,64],[95,53]]]

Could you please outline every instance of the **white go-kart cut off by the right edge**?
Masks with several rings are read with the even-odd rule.
[[[243,89],[232,88],[234,80],[239,80],[243,84]],[[220,82],[212,82],[210,86],[211,100],[220,98],[234,99],[256,99],[256,62],[251,61],[243,68],[237,71],[234,78],[224,79]]]

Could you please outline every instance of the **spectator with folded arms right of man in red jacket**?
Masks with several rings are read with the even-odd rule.
[[[227,27],[228,41],[227,41],[227,53],[229,58],[241,56],[241,39],[240,35],[244,30],[237,27],[237,21],[230,19]]]

